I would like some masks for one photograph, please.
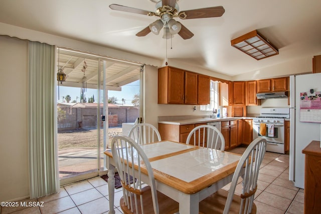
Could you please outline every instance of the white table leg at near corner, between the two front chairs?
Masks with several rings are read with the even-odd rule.
[[[199,194],[180,193],[179,196],[180,213],[198,214],[199,213]]]

